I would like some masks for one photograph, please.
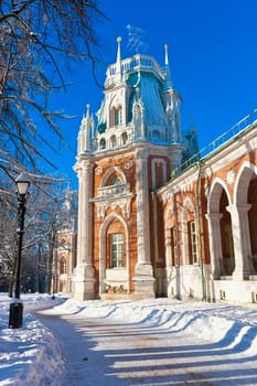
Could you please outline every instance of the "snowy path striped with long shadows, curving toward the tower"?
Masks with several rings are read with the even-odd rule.
[[[256,351],[247,346],[256,329],[237,331],[235,323],[211,343],[206,333],[205,339],[191,334],[175,319],[167,328],[125,323],[111,312],[99,318],[46,314],[40,319],[58,339],[66,364],[58,386],[257,385]],[[247,334],[249,340],[243,340]]]

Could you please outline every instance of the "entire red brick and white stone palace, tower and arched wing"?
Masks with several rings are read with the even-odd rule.
[[[199,151],[182,135],[181,98],[148,55],[107,68],[93,119],[82,119],[72,297],[257,302],[257,122]]]

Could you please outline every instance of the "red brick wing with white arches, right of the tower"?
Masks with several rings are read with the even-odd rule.
[[[257,301],[256,135],[254,122],[158,191],[167,296]]]

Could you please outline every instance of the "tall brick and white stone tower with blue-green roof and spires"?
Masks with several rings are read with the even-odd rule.
[[[87,106],[78,133],[78,239],[73,297],[156,296],[151,192],[183,157],[181,99],[164,67],[148,55],[107,68],[97,124]]]

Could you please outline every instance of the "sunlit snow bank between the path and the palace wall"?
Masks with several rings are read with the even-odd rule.
[[[146,323],[160,330],[183,332],[210,342],[223,342],[229,349],[256,354],[257,310],[255,308],[181,302],[170,299],[75,301],[54,308],[55,313],[78,318],[111,318],[125,323]]]

